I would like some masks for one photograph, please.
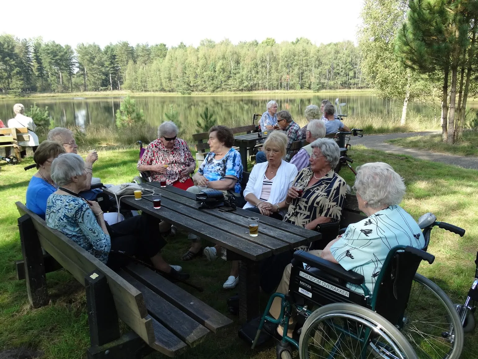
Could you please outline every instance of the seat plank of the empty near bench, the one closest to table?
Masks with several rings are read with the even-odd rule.
[[[136,263],[130,263],[126,267],[126,271],[133,277],[148,283],[152,291],[177,306],[182,312],[189,315],[201,325],[204,325],[213,333],[232,324],[232,320],[227,316],[217,312],[217,310],[211,308],[169,280],[157,275],[153,270]]]

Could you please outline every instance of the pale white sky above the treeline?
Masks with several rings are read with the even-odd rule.
[[[276,42],[306,37],[320,45],[356,41],[363,0],[22,0],[1,2],[0,34],[76,47],[118,41],[131,45],[180,42],[198,46],[272,37]]]

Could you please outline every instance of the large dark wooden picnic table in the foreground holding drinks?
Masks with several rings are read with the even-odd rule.
[[[122,197],[121,203],[226,248],[228,260],[240,260],[239,319],[243,321],[260,315],[260,261],[322,238],[318,232],[242,208],[233,212],[220,212],[220,208],[199,209],[195,194],[169,185],[162,188],[159,182],[141,183],[141,187],[161,193],[161,208],[153,208],[153,196],[143,195],[141,200]],[[107,189],[104,191],[108,192]],[[149,191],[143,191],[143,194],[147,193]],[[251,216],[260,218],[256,237],[249,236],[247,219]]]

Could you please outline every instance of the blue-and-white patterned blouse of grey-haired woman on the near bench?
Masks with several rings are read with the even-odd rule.
[[[111,239],[81,198],[53,193],[46,202],[46,225],[62,232],[78,246],[106,264]]]

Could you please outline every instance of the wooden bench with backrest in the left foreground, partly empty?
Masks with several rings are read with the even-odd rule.
[[[61,232],[47,227],[21,202],[16,205],[23,254],[23,270],[17,276],[26,279],[28,298],[35,308],[49,303],[47,271],[63,267],[86,287],[88,358],[141,358],[152,350],[174,357],[232,323],[151,269],[130,264],[114,272]],[[133,332],[121,336],[118,319]]]

